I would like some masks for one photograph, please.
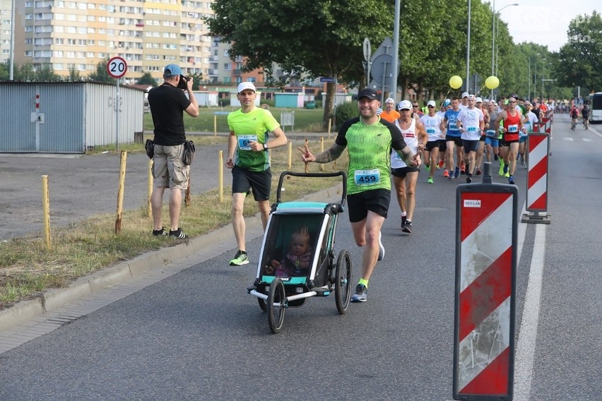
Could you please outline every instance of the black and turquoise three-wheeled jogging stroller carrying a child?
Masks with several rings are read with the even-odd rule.
[[[341,176],[340,203],[282,202],[285,176]],[[335,260],[334,239],[339,213],[345,209],[347,174],[283,172],[278,181],[276,203],[261,244],[256,279],[247,292],[268,313],[268,324],[278,333],[285,310],[302,306],[309,297],[335,293],[338,313],[346,313],[351,297],[351,258],[345,249]]]

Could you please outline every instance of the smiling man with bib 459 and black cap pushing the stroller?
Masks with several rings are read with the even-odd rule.
[[[307,145],[302,151],[304,162],[328,163],[347,148],[347,204],[355,244],[364,247],[360,282],[351,298],[365,302],[370,276],[377,261],[384,257],[380,229],[389,212],[391,179],[389,154],[393,148],[409,166],[420,165],[419,154],[413,154],[401,131],[377,116],[379,95],[372,88],[358,93],[360,116],[349,119],[338,130],[334,145],[319,155],[312,155]]]

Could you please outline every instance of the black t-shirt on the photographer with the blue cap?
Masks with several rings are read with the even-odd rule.
[[[184,91],[170,83],[148,91],[148,105],[151,107],[157,145],[182,145],[186,141],[184,133],[184,110],[190,100]]]

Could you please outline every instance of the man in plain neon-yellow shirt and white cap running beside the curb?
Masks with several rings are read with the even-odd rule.
[[[257,202],[264,230],[270,213],[272,174],[268,149],[286,145],[287,139],[278,121],[265,109],[255,107],[255,85],[243,82],[238,85],[237,99],[240,109],[228,114],[228,159],[226,167],[232,169],[232,227],[238,246],[231,266],[249,263],[244,238],[244,198],[249,191]],[[273,138],[268,138],[269,134]]]

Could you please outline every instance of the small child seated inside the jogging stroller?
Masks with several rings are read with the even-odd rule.
[[[271,261],[266,266],[266,273],[274,274],[276,277],[291,277],[293,275],[307,275],[307,268],[312,261],[312,246],[309,241],[309,229],[306,226],[299,227],[290,236],[288,252],[282,261]]]

